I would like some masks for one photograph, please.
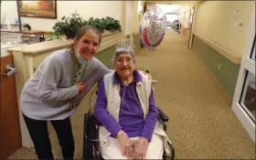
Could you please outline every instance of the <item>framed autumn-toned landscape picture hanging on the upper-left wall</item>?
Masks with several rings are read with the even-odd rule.
[[[57,19],[57,0],[23,1],[17,0],[20,16]]]

